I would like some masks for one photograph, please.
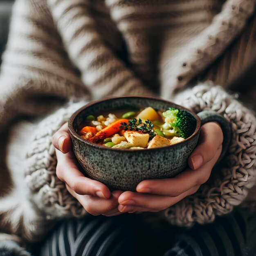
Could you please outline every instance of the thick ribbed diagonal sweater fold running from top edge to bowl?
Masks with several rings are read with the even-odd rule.
[[[81,80],[92,99],[153,95],[118,57],[124,55],[123,39],[105,4],[84,0],[47,0],[47,3],[65,49],[81,72]]]

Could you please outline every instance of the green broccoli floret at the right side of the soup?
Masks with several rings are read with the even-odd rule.
[[[188,138],[195,131],[196,119],[186,110],[170,108],[163,112],[165,123],[162,125],[163,132],[166,136],[180,136]]]

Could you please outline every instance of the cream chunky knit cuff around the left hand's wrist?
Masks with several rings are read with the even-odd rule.
[[[32,135],[27,151],[25,177],[31,197],[49,219],[66,216],[83,216],[81,204],[67,191],[56,176],[57,159],[52,145],[52,135],[68,121],[70,116],[86,104],[70,102],[41,121]]]

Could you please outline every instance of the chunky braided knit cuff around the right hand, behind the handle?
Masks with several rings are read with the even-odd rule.
[[[177,103],[195,112],[211,109],[232,124],[231,145],[210,179],[197,193],[164,211],[169,222],[191,226],[204,224],[232,211],[256,180],[256,118],[241,103],[218,86],[198,85],[177,97]]]

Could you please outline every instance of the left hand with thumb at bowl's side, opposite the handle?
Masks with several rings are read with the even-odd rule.
[[[121,214],[118,209],[118,198],[122,191],[110,193],[107,186],[96,180],[85,177],[76,166],[76,159],[71,150],[72,143],[67,132],[67,123],[53,136],[52,144],[56,148],[57,177],[65,182],[67,190],[85,208],[94,215],[115,216]]]

